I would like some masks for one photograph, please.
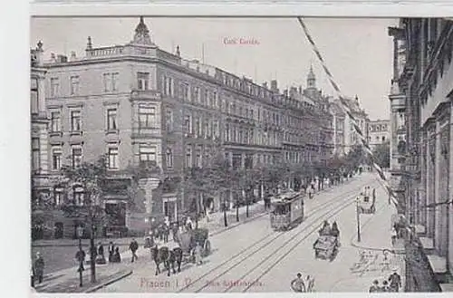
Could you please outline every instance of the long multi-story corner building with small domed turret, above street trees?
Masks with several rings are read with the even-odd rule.
[[[149,216],[178,218],[191,204],[178,183],[184,169],[206,166],[218,150],[233,168],[331,154],[332,117],[313,77],[306,92],[314,100],[300,89],[297,96],[306,101],[299,101],[295,93],[281,94],[276,81],[269,88],[185,60],[179,47],[163,51],[142,17],[130,43],[94,47],[88,37],[83,57],[52,55],[45,66],[49,171],[106,155],[114,187],[106,189],[103,204],[123,215],[119,226],[144,223]],[[140,166],[160,173],[140,181],[147,200],[141,218],[128,211],[126,191],[128,169]],[[55,204],[82,204],[82,189],[62,191],[53,187]]]

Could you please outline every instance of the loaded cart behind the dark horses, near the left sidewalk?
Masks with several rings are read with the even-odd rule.
[[[206,228],[188,229],[179,233],[178,245],[182,250],[183,259],[186,262],[193,262],[193,251],[197,243],[201,245],[201,255],[207,256],[211,253],[211,243],[208,239],[209,231]]]

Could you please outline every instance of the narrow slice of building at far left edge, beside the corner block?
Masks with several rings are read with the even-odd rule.
[[[31,120],[32,120],[32,203],[42,205],[49,195],[47,113],[45,108],[45,75],[43,67],[43,43],[30,51],[31,55]]]

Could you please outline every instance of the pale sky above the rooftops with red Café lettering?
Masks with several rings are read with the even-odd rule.
[[[308,18],[304,20],[343,94],[359,97],[371,120],[389,119],[392,39],[396,19]],[[129,43],[139,17],[33,18],[31,46],[43,42],[44,55],[84,55],[93,47]],[[335,95],[297,19],[145,17],[151,39],[185,59],[198,59],[255,82],[277,80],[283,90],[306,86],[313,65],[317,86]],[[251,41],[244,44],[242,41]],[[236,43],[234,43],[236,41]]]

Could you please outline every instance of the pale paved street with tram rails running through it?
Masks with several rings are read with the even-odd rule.
[[[311,274],[316,279],[315,290],[363,292],[372,279],[388,272],[376,269],[374,264],[360,274],[352,273],[351,267],[358,261],[359,248],[352,245],[356,236],[354,198],[364,185],[378,188],[378,214],[387,212],[388,197],[374,175],[365,173],[348,184],[331,188],[305,201],[304,222],[287,232],[275,232],[270,228],[269,217],[237,226],[225,233],[211,237],[213,252],[204,264],[184,264],[181,273],[156,276],[155,265],[141,259],[134,274],[111,284],[100,292],[115,293],[226,293],[226,292],[288,292],[289,282],[298,272]],[[377,215],[375,218],[379,220]],[[368,216],[372,219],[372,216]],[[324,219],[334,220],[342,233],[340,253],[332,261],[316,260],[313,242]],[[362,225],[367,225],[367,216],[362,215]],[[390,223],[382,223],[383,239],[387,239]],[[378,225],[379,226],[379,225]],[[382,227],[382,228],[384,228]],[[374,227],[375,229],[376,227]],[[381,228],[379,228],[381,230]],[[365,233],[366,229],[364,229]],[[373,233],[368,231],[367,233]],[[376,231],[379,234],[379,231]],[[378,253],[379,255],[380,253]],[[371,270],[371,266],[374,268]],[[387,268],[386,270],[390,270]],[[360,275],[360,276],[359,276]],[[361,282],[352,283],[350,280]]]

